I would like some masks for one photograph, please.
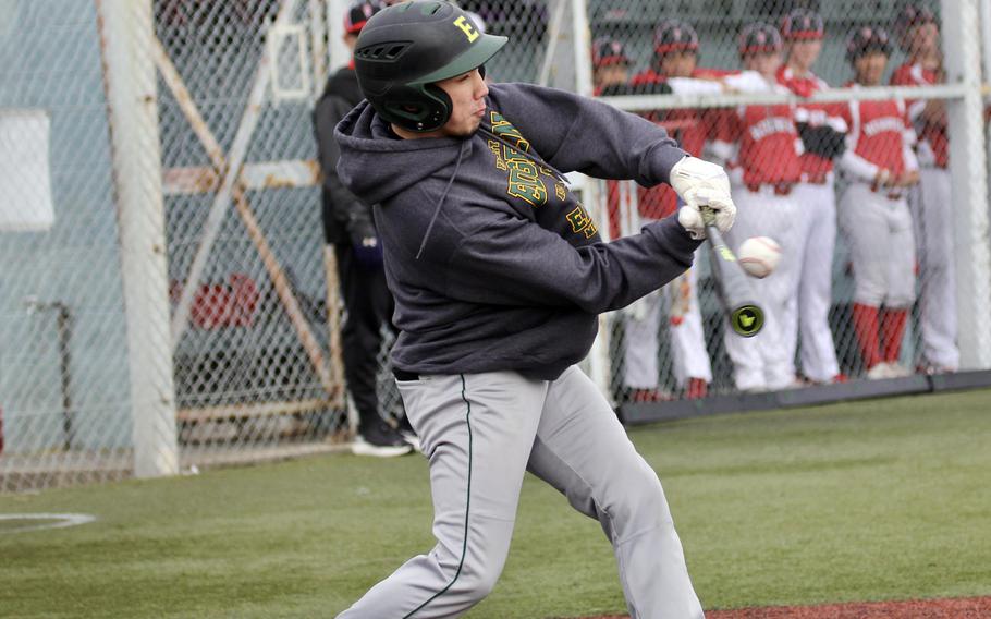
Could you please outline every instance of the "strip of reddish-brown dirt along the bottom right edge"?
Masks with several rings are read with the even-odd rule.
[[[991,597],[864,602],[820,606],[769,606],[709,610],[706,619],[984,619],[991,618]],[[626,615],[586,619],[628,619]]]

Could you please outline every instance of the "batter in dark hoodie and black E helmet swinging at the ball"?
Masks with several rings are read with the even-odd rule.
[[[634,617],[701,619],[657,474],[575,365],[597,314],[692,264],[699,202],[729,229],[722,168],[611,106],[488,85],[506,43],[454,5],[397,4],[362,32],[366,101],[335,133],[341,178],[375,204],[401,329],[396,381],[430,462],[437,545],[340,617],[457,617],[494,586],[524,472],[602,525]],[[686,206],[599,240],[562,172],[672,183]]]

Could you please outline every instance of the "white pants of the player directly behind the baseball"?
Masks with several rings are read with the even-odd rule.
[[[795,278],[798,277],[797,206],[790,195],[769,189],[753,192],[735,189],[736,223],[726,234],[734,252],[751,236],[770,236],[781,245],[781,260],[774,272],[750,279],[754,294],[764,312],[764,325],[751,338],[742,338],[726,328],[726,353],[733,360],[733,377],[742,391],[782,389],[795,380],[795,361],[788,357],[782,327],[785,316],[796,312]]]

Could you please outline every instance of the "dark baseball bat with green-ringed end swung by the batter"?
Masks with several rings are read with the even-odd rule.
[[[706,234],[709,236],[709,256],[720,304],[730,318],[733,330],[739,336],[751,338],[763,328],[763,310],[757,303],[747,274],[715,228],[715,213],[705,206],[701,213]]]

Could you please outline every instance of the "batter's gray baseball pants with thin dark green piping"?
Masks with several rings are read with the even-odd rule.
[[[339,619],[460,617],[481,602],[505,563],[527,470],[600,522],[634,619],[704,617],[661,483],[580,369],[397,383],[430,460],[437,545]]]

